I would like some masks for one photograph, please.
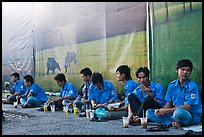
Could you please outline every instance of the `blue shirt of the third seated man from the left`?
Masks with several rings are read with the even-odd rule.
[[[67,96],[73,97],[72,99],[70,99],[70,101],[74,101],[78,96],[77,90],[69,82],[66,82],[65,85],[60,89],[60,97],[67,97]]]

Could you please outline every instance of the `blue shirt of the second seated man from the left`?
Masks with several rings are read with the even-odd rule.
[[[48,100],[45,91],[37,84],[33,83],[26,91],[26,94],[32,93],[32,96],[40,101],[46,102]]]

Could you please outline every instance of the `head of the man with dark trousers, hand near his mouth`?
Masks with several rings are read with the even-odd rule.
[[[138,83],[143,85],[149,84],[149,69],[147,67],[140,67],[136,71],[136,77],[138,79]]]

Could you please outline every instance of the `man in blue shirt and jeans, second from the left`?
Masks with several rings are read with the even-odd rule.
[[[31,75],[26,75],[23,78],[27,91],[25,94],[17,96],[17,98],[20,98],[22,108],[42,106],[48,100],[45,91],[34,83]]]

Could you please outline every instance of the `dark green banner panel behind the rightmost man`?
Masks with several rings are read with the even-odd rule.
[[[202,94],[202,2],[151,2],[150,9],[152,79],[167,89],[178,60],[190,59]]]

